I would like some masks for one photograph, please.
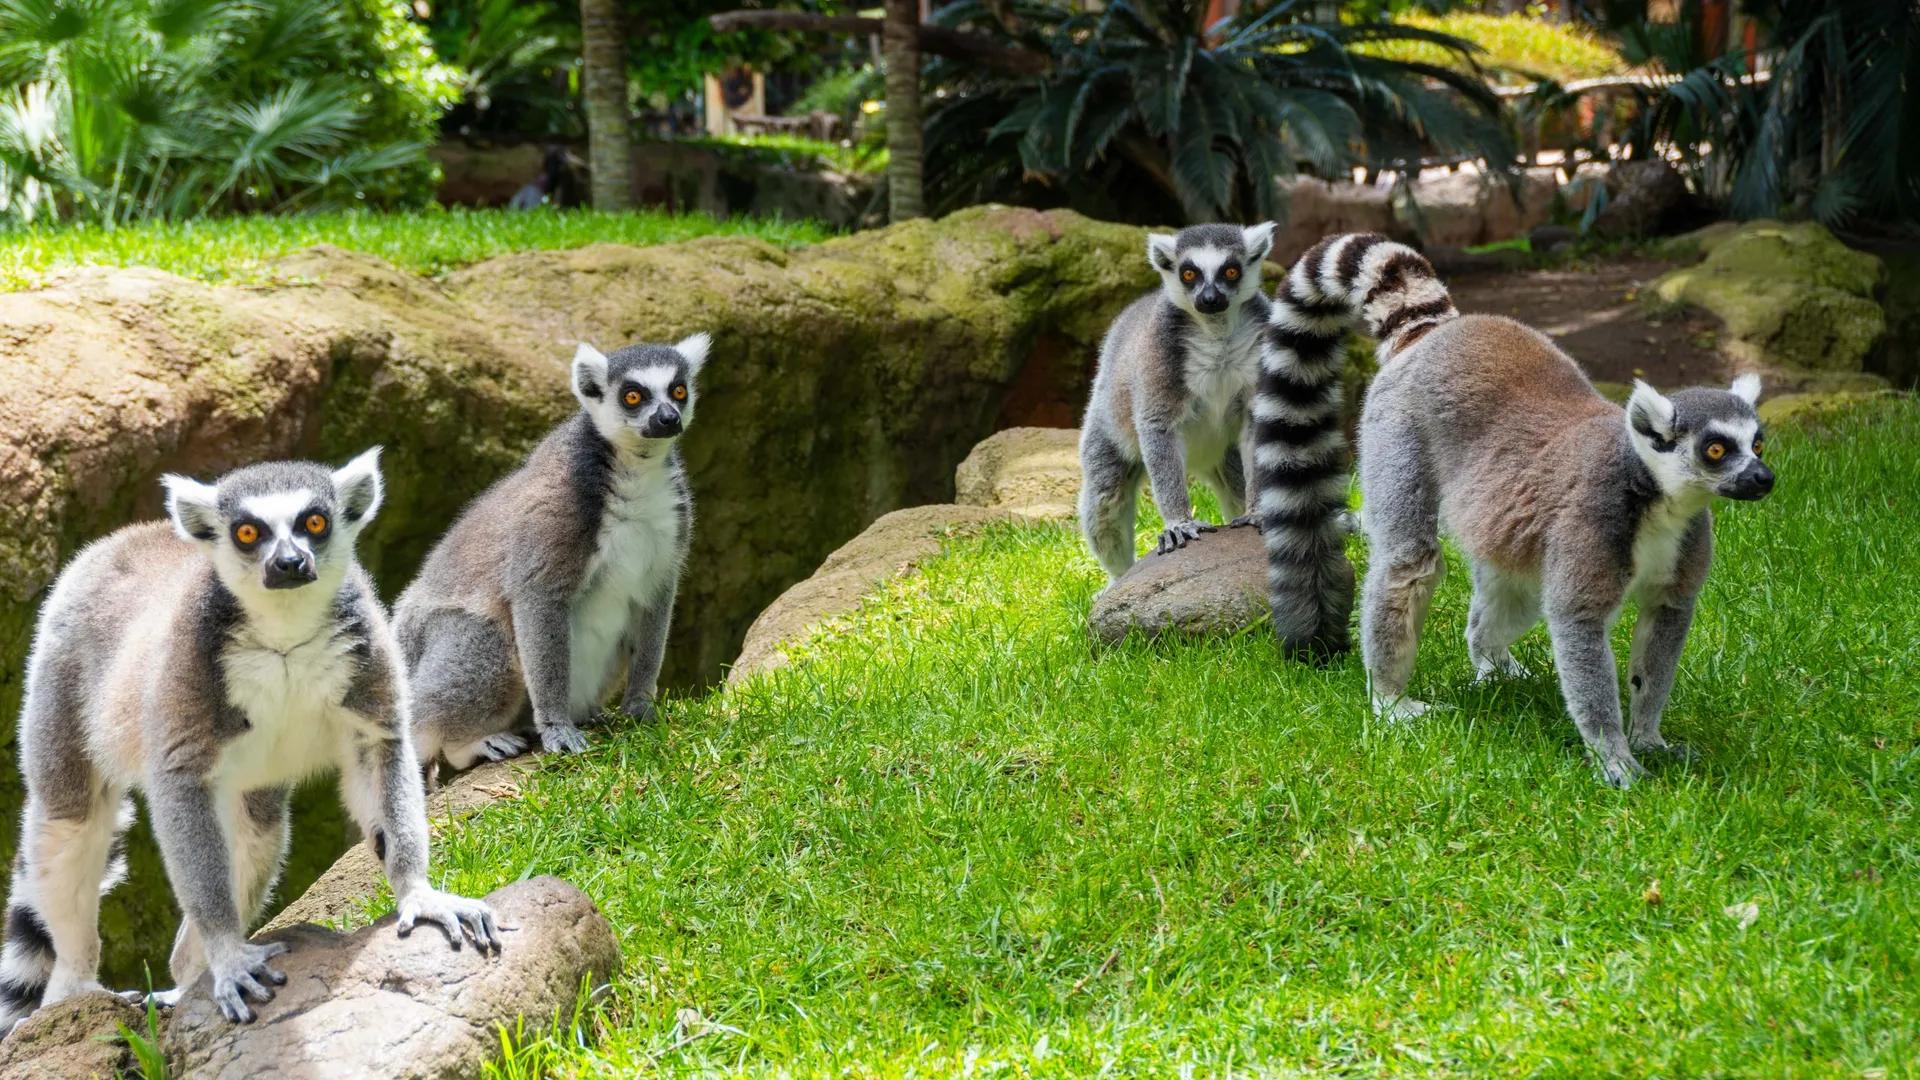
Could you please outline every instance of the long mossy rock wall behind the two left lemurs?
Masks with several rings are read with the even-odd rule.
[[[388,502],[361,555],[392,598],[465,500],[574,402],[578,340],[714,334],[685,438],[699,500],[670,686],[718,678],[781,590],[889,509],[945,502],[1016,388],[1085,394],[1108,319],[1152,284],[1142,231],[975,208],[801,252],[747,238],[492,259],[445,282],[332,248],[261,288],[142,269],[0,296],[0,730],[19,715],[33,617],[84,542],[161,513],[167,471],[344,461],[384,444]],[[15,821],[12,740],[0,817]],[[298,896],[351,840],[303,796]],[[15,836],[0,830],[0,855]],[[163,980],[173,901],[152,842],[102,915],[106,972]]]

